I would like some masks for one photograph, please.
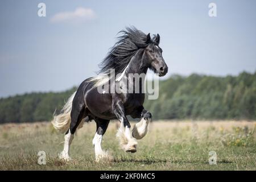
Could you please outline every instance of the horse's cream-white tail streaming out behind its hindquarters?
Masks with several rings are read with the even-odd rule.
[[[68,98],[68,101],[64,105],[63,109],[61,109],[60,114],[53,114],[52,125],[57,131],[60,131],[61,133],[65,133],[69,129],[69,125],[71,123],[72,102],[75,94],[76,92]]]

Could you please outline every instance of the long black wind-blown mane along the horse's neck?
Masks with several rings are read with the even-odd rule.
[[[117,38],[117,43],[99,64],[101,70],[98,73],[109,73],[109,69],[115,69],[115,75],[121,73],[140,48],[145,48],[152,43],[152,41],[147,42],[147,35],[135,27],[127,27],[119,33],[122,35]]]

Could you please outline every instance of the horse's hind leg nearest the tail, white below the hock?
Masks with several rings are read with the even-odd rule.
[[[85,110],[84,107],[80,108],[72,108],[71,111],[71,125],[67,133],[65,133],[65,142],[64,142],[64,149],[60,153],[59,158],[64,160],[71,160],[69,156],[69,149],[74,138],[74,133],[77,127],[80,125],[82,118],[85,117]]]

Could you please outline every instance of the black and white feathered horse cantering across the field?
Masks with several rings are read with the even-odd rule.
[[[122,35],[117,38],[118,41],[99,64],[100,71],[97,76],[84,80],[77,91],[69,97],[60,114],[53,114],[53,127],[65,133],[64,149],[59,154],[60,159],[71,160],[69,148],[76,130],[81,128],[84,122],[92,120],[96,122],[96,133],[92,141],[96,162],[113,159],[101,148],[102,137],[110,120],[119,120],[117,138],[126,152],[136,152],[137,139],[142,139],[147,134],[148,123],[152,116],[150,111],[143,107],[144,77],[148,69],[158,76],[164,76],[168,72],[162,56],[162,48],[159,47],[160,36],[153,35],[151,39],[150,33],[144,34],[135,27],[127,27],[119,34]],[[137,89],[135,79],[129,78],[130,74],[143,75],[143,79],[139,80],[139,92],[109,92],[116,88],[116,85],[124,89],[122,87],[125,87],[123,85],[127,80],[132,85],[131,90]],[[103,88],[102,85],[104,85],[103,91],[98,89]],[[133,130],[127,119],[128,115],[132,118],[141,118],[141,121],[134,125]]]

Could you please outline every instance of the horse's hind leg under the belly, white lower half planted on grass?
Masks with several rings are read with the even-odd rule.
[[[100,160],[113,160],[112,156],[110,156],[108,154],[108,152],[103,151],[101,148],[101,140],[103,135],[106,132],[106,129],[108,128],[109,125],[109,120],[105,120],[105,119],[94,119],[96,122],[96,134],[94,135],[93,138],[93,146],[94,146],[94,150],[95,150],[95,158],[96,158],[96,162],[99,162]]]

